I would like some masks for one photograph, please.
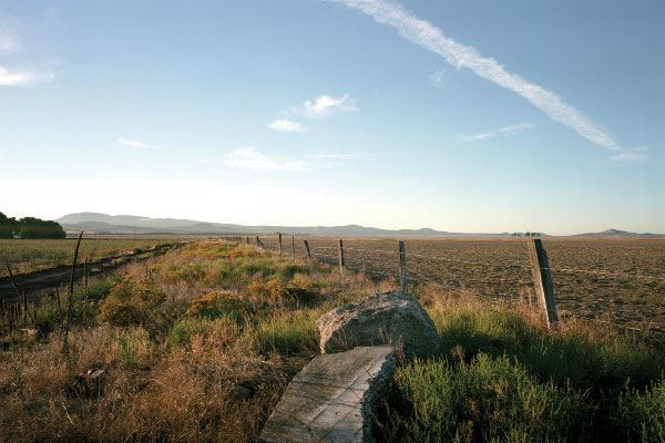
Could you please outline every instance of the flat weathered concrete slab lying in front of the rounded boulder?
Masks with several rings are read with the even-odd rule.
[[[316,357],[286,389],[260,441],[374,442],[371,425],[396,361],[390,346]]]

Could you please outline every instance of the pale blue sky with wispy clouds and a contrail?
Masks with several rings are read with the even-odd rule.
[[[659,0],[0,0],[0,212],[665,233]]]

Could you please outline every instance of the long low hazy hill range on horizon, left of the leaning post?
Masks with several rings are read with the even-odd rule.
[[[57,220],[68,231],[98,231],[100,234],[198,234],[198,235],[258,235],[283,233],[310,236],[402,236],[402,237],[508,237],[501,234],[448,233],[430,228],[380,229],[359,225],[347,226],[244,226],[197,222],[181,218],[150,218],[135,215],[101,213],[68,214]]]

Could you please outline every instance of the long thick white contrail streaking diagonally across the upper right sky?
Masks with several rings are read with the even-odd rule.
[[[582,137],[608,150],[621,147],[602,126],[566,104],[559,95],[518,74],[510,73],[492,58],[482,56],[474,48],[458,43],[441,30],[420,20],[400,4],[386,0],[329,0],[346,4],[372,17],[377,22],[396,28],[401,37],[436,54],[457,69],[468,68],[477,75],[509,89],[530,101],[550,119],[571,127]]]

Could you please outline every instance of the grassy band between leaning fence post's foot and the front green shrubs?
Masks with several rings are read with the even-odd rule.
[[[432,318],[444,354],[457,346],[464,349],[467,359],[479,352],[507,354],[541,380],[553,379],[560,385],[570,382],[596,393],[622,389],[626,379],[646,387],[665,367],[663,353],[625,334],[591,337],[582,329],[555,333],[508,310],[446,309],[432,312]]]

